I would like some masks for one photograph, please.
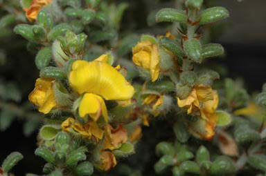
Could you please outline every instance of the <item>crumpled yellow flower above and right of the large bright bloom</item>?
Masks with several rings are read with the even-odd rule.
[[[149,70],[152,82],[156,81],[160,72],[160,57],[157,45],[150,41],[141,41],[132,48],[132,53],[132,60],[136,66]]]

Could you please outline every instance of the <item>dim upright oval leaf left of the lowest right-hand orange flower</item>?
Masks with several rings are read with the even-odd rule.
[[[188,133],[188,130],[186,129],[186,126],[183,122],[178,121],[177,123],[175,123],[173,129],[175,137],[177,137],[177,139],[181,143],[185,143],[186,141],[188,141],[190,134]]]

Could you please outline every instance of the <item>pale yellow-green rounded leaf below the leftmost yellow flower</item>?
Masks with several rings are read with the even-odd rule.
[[[58,132],[60,132],[61,126],[45,125],[39,130],[39,135],[42,139],[51,140],[54,139]]]

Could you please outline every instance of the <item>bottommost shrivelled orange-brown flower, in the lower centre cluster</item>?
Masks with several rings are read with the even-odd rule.
[[[101,151],[100,159],[101,161],[97,166],[101,170],[108,171],[114,168],[114,166],[116,166],[116,157],[114,156],[113,153],[109,151],[105,151],[105,150]]]

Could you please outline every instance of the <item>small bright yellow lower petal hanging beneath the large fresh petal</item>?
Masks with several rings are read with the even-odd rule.
[[[100,115],[103,115],[105,121],[108,120],[105,101],[103,101],[102,97],[92,93],[85,93],[80,102],[78,113],[80,117],[89,115],[91,119],[94,119],[94,121],[97,121]]]

